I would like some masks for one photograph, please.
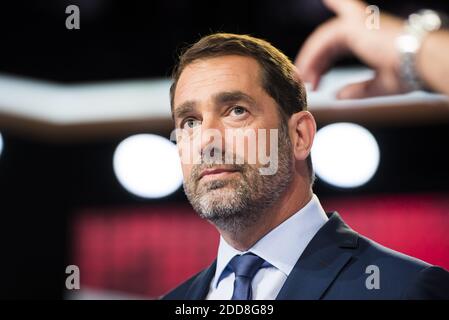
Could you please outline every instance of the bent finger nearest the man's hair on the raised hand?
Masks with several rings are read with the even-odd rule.
[[[307,38],[295,59],[299,76],[311,83],[315,90],[323,73],[347,51],[340,21],[332,19],[325,22]]]

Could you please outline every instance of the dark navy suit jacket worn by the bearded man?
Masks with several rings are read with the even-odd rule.
[[[378,272],[368,268],[367,273],[371,265]],[[216,261],[163,299],[204,299],[215,266]],[[379,286],[373,288],[376,274]],[[449,299],[449,273],[357,234],[334,212],[310,241],[276,299]]]

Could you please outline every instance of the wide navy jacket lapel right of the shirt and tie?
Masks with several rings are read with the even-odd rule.
[[[298,259],[276,299],[321,299],[351,260],[357,240],[357,233],[338,213],[332,213]]]

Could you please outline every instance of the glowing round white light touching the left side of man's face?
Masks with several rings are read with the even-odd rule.
[[[143,198],[161,198],[182,184],[176,146],[154,134],[138,134],[123,140],[115,150],[114,171],[122,186]]]

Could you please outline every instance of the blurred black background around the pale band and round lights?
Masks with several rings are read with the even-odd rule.
[[[70,4],[80,7],[80,30],[65,28]],[[404,17],[422,7],[449,12],[447,1],[371,4]],[[265,38],[293,59],[306,36],[331,16],[317,0],[4,1],[0,72],[63,83],[167,77],[182,47],[216,31]],[[368,129],[382,157],[373,180],[351,190],[318,180],[317,194],[449,190],[447,124]],[[0,156],[2,298],[62,297],[69,221],[79,208],[186,201],[181,190],[144,200],[119,185],[112,154],[126,136],[62,143],[0,132],[5,145]]]

